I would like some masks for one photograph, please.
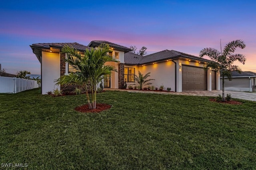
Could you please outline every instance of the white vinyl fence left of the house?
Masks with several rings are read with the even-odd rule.
[[[19,93],[34,88],[38,88],[35,80],[0,76],[0,93]]]

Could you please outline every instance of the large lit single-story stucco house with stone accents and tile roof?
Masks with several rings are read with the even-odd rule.
[[[115,55],[118,63],[110,62],[118,69],[112,73],[110,79],[104,80],[104,88],[120,89],[134,84],[133,76],[151,72],[152,85],[164,85],[172,91],[182,92],[191,90],[219,90],[220,75],[216,71],[203,68],[208,59],[182,53],[174,50],[159,51],[150,55],[140,56],[131,53],[130,48],[107,41],[92,41],[88,46],[79,43],[34,43],[30,45],[33,53],[41,63],[42,94],[55,88],[64,88],[55,85],[60,76],[70,73],[72,66],[65,63],[65,53],[61,53],[64,45],[76,48],[81,53],[90,47],[98,47],[101,43],[110,45],[110,55]]]

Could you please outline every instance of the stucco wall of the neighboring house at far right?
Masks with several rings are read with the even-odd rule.
[[[222,82],[222,78],[220,79],[220,81]],[[220,87],[220,90],[222,90],[222,85]],[[250,88],[250,79],[248,77],[240,77],[240,78],[233,78],[232,81],[229,81],[226,78],[225,79],[225,90],[228,90],[228,91],[252,91],[252,88]]]

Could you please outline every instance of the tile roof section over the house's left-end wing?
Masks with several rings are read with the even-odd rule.
[[[50,47],[58,48],[61,49],[65,45],[68,45],[70,47],[74,47],[78,51],[85,51],[86,49],[90,49],[90,47],[87,47],[85,45],[82,45],[80,43],[33,43],[30,45],[30,47],[39,47],[39,48],[44,48],[44,49],[50,49]]]

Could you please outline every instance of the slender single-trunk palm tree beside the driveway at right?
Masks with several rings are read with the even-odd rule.
[[[226,44],[222,51],[218,51],[214,48],[204,48],[200,51],[199,57],[203,57],[204,55],[208,55],[210,59],[214,62],[209,62],[206,64],[206,68],[212,68],[218,72],[220,72],[220,76],[222,77],[222,101],[225,100],[224,88],[225,82],[224,78],[228,77],[228,79],[232,80],[232,71],[241,72],[241,69],[238,65],[233,65],[234,61],[239,61],[244,64],[246,58],[242,54],[234,54],[234,51],[237,47],[244,49],[245,43],[242,40],[235,40]]]

